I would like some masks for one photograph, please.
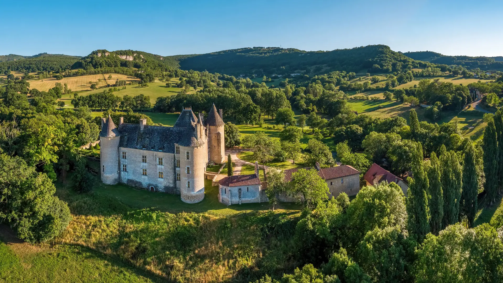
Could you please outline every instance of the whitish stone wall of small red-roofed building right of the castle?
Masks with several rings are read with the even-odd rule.
[[[219,185],[218,199],[226,205],[260,203],[262,201],[261,187],[260,184],[231,187]]]

